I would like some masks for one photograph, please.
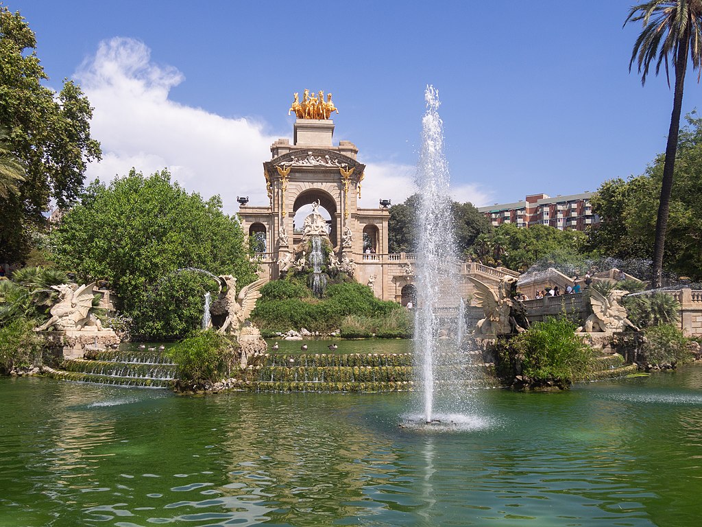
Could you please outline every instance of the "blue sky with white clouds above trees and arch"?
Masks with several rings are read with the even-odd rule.
[[[77,79],[95,106],[105,160],[88,176],[168,167],[228,212],[266,204],[261,163],[305,88],[333,93],[335,141],[368,164],[364,207],[413,192],[426,84],[458,200],[596,190],[665,148],[673,94],[628,72],[630,0],[4,4],[37,33],[48,84]],[[699,94],[691,74],[684,112]]]

